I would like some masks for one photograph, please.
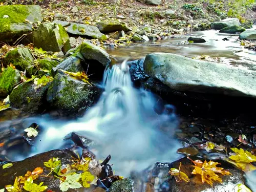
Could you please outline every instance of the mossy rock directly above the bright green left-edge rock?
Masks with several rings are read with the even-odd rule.
[[[28,48],[18,48],[9,51],[4,59],[4,65],[12,64],[16,69],[25,71],[31,76],[36,72],[34,68],[34,57]]]

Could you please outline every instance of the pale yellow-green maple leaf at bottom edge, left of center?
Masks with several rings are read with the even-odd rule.
[[[82,185],[78,182],[81,174],[68,175],[66,180],[60,183],[59,188],[61,191],[67,191],[69,188],[80,188]]]

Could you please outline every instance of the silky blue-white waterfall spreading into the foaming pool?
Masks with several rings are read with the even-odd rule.
[[[178,121],[171,105],[156,113],[156,98],[133,87],[125,61],[106,68],[103,87],[98,103],[76,121],[33,118],[44,129],[34,152],[59,148],[66,135],[76,132],[94,141],[91,150],[98,159],[111,154],[111,163],[119,175],[128,176],[131,170],[177,158],[179,144],[172,136]]]

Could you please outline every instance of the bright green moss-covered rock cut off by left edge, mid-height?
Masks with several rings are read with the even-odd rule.
[[[8,67],[0,75],[0,97],[6,97],[20,81],[18,70]]]

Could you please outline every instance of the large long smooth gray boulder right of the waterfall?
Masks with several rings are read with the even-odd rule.
[[[144,70],[178,91],[256,97],[256,72],[170,53],[148,54]]]

